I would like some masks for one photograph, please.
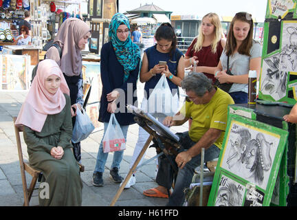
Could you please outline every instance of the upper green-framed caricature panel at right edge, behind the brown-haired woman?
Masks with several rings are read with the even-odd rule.
[[[297,21],[265,23],[259,98],[295,104],[297,101]]]

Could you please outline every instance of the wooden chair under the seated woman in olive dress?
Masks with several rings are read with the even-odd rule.
[[[17,117],[14,117],[13,122],[15,122],[16,120],[17,120]],[[34,189],[37,189],[37,188],[35,188],[36,181],[39,178],[39,175],[42,175],[42,173],[41,173],[41,171],[32,168],[32,166],[30,166],[30,164],[28,162],[24,162],[24,160],[23,160],[23,152],[22,152],[22,148],[21,148],[21,137],[20,137],[20,132],[23,132],[23,126],[14,124],[14,131],[15,131],[15,135],[16,135],[16,139],[17,139],[19,163],[20,163],[20,167],[21,167],[21,178],[22,178],[22,183],[23,183],[23,196],[24,196],[23,206],[29,206],[29,202],[32,197],[32,193],[33,193]],[[82,164],[79,164],[79,163],[78,163],[78,165],[80,167],[80,172],[84,172],[85,166],[83,166]],[[27,187],[25,171],[27,171],[32,176],[32,181],[31,181],[29,188]]]

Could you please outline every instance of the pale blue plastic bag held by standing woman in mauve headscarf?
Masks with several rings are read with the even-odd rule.
[[[83,112],[80,111],[78,107],[76,109],[76,122],[72,131],[72,142],[74,143],[85,140],[95,129],[91,119],[85,112],[85,109],[82,109]]]

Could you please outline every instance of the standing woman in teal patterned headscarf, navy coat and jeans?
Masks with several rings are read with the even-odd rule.
[[[140,49],[132,43],[129,36],[129,20],[124,14],[113,15],[109,24],[109,42],[101,49],[101,80],[102,96],[100,100],[99,121],[104,123],[104,133],[107,130],[111,113],[121,126],[126,139],[129,124],[134,124],[133,114],[126,111],[126,104],[137,103],[136,81],[140,68]],[[131,97],[128,97],[129,96]],[[115,151],[111,164],[110,175],[115,183],[122,182],[118,174],[123,151]],[[108,153],[103,152],[100,143],[96,167],[93,174],[93,185],[103,186],[102,173],[107,161]]]

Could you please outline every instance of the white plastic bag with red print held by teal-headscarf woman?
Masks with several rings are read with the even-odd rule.
[[[111,118],[109,119],[109,124],[104,133],[102,142],[104,153],[126,149],[126,141],[114,113],[111,113]]]

